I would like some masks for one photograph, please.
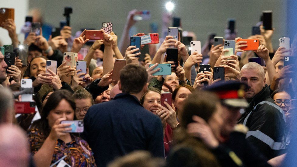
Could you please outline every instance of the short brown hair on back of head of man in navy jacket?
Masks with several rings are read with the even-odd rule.
[[[137,64],[128,64],[120,71],[121,89],[123,93],[139,93],[148,80],[146,69]]]

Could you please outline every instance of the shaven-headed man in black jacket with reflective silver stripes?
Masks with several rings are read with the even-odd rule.
[[[285,114],[270,97],[264,76],[264,69],[255,62],[242,67],[240,81],[248,85],[245,98],[249,107],[239,123],[249,128],[247,140],[271,159],[281,155],[285,149]]]

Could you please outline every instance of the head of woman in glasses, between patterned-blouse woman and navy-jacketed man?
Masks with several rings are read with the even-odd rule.
[[[83,120],[89,108],[94,104],[92,95],[86,89],[79,89],[74,92],[73,98],[76,104],[75,116]]]

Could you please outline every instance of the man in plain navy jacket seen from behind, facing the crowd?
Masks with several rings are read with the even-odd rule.
[[[161,120],[139,103],[147,90],[147,79],[144,67],[126,65],[119,82],[123,93],[93,105],[86,113],[82,137],[92,148],[97,166],[106,166],[115,157],[134,150],[164,157]]]

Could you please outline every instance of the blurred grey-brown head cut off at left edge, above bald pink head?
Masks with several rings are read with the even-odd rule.
[[[0,123],[12,123],[13,104],[12,92],[7,88],[0,87]]]

